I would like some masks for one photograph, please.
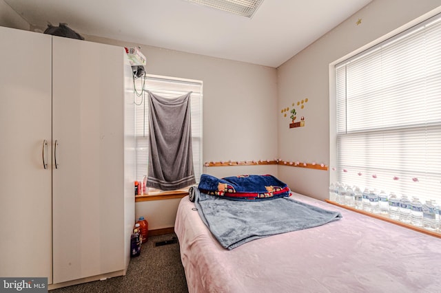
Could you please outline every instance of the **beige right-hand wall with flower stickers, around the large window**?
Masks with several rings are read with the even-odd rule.
[[[334,100],[330,104],[329,99],[335,94],[330,90],[329,65],[361,47],[378,43],[393,31],[396,34],[409,27],[409,22],[418,22],[416,19],[423,14],[433,15],[435,8],[441,12],[440,6],[440,0],[374,0],[281,65],[278,68],[279,157],[332,166],[335,158],[330,155],[329,141],[330,138],[335,141],[335,137],[334,133],[330,136],[329,129],[334,129],[335,118],[329,116],[329,105],[334,105]],[[359,25],[358,19],[361,19]],[[289,122],[280,114],[280,109],[304,98],[308,98],[308,102],[300,115],[305,116],[305,127],[289,129]],[[329,175],[333,172],[280,166],[278,176],[293,191],[325,199]]]

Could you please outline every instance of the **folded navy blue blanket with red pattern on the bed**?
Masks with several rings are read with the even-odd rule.
[[[198,189],[201,193],[234,200],[263,200],[291,195],[287,184],[272,175],[238,175],[219,179],[202,174]]]

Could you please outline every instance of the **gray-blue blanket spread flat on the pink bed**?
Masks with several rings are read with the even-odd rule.
[[[207,195],[190,188],[205,225],[223,248],[232,250],[244,243],[285,232],[313,228],[342,218],[339,212],[324,210],[280,197],[261,202],[238,202]]]

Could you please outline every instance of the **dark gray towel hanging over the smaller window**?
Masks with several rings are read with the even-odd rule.
[[[196,182],[193,168],[189,92],[178,98],[149,96],[147,186],[172,191]]]

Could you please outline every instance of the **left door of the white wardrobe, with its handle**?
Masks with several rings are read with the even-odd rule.
[[[51,37],[0,36],[0,276],[52,283]]]

